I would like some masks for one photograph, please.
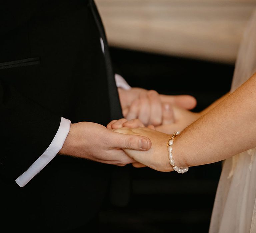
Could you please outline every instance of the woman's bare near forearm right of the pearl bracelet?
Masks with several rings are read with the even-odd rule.
[[[256,146],[255,89],[254,74],[176,138],[174,154],[184,158],[184,165],[220,161]]]

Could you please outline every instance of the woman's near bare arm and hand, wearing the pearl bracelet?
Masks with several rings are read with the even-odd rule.
[[[256,74],[174,139],[173,158],[178,167],[217,162],[256,147]],[[156,170],[171,171],[168,135],[149,129],[118,129],[143,134],[152,141],[147,152],[126,152]],[[130,130],[130,131],[129,131]]]

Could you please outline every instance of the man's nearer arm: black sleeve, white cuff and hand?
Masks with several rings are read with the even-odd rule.
[[[20,186],[24,186],[29,181],[24,179],[26,174],[32,178],[43,169],[38,163],[46,164],[47,156],[48,159],[52,159],[58,152],[61,155],[124,166],[134,160],[122,149],[147,150],[151,147],[148,138],[122,135],[96,123],[80,122],[71,125],[67,137],[63,133],[65,140],[62,138],[59,144],[56,141],[56,145],[62,145],[64,141],[63,147],[58,151],[59,147],[52,147],[51,143],[55,142],[56,132],[57,135],[63,132],[59,131],[61,117],[22,96],[14,87],[2,83],[0,83],[0,111],[2,130],[0,162],[3,168],[1,172],[11,182],[19,176],[17,182],[20,182]],[[62,122],[69,128],[68,121]],[[62,126],[65,128],[65,125]],[[49,145],[56,149],[53,157],[49,157],[51,154],[51,152],[48,154]],[[46,163],[42,163],[41,156]]]

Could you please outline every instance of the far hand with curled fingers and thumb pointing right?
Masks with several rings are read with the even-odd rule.
[[[196,100],[189,95],[160,95],[154,90],[118,88],[123,115],[126,119],[140,119],[144,125],[158,126],[163,123],[162,105],[177,105],[185,109],[193,109]],[[169,116],[170,118],[170,116]]]

